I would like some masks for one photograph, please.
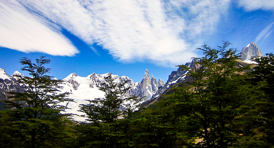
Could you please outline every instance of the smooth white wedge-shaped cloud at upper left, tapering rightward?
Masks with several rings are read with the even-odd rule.
[[[62,56],[79,52],[66,37],[45,24],[17,1],[0,1],[1,47]]]

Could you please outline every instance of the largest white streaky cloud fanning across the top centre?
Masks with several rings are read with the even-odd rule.
[[[120,61],[149,60],[172,67],[196,57],[195,49],[215,31],[230,4],[230,0],[19,1],[32,15],[58,24],[89,45],[101,45]],[[54,24],[47,26],[56,29]]]

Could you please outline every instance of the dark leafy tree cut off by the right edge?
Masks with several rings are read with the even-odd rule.
[[[261,90],[266,94],[265,102],[258,105],[258,113],[263,118],[254,120],[254,124],[267,134],[265,138],[268,142],[274,144],[274,54],[254,57],[254,60],[258,65],[250,72],[250,81],[253,85],[264,83]]]

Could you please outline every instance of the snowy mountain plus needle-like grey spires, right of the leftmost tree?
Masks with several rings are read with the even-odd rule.
[[[102,85],[102,83],[105,82],[104,77],[108,76],[107,74],[90,74],[86,77],[78,76],[77,74],[73,73],[68,75],[66,78],[64,78],[64,82],[62,84],[63,89],[61,89],[61,92],[70,92],[69,95],[70,99],[74,99],[75,102],[69,102],[69,103],[63,103],[63,105],[67,106],[68,110],[66,112],[68,113],[75,113],[78,115],[83,115],[83,112],[78,111],[80,104],[87,104],[88,102],[85,100],[92,100],[95,98],[104,97],[104,92],[100,91],[98,87]],[[163,81],[159,79],[157,82],[156,78],[152,76],[152,80],[150,79],[149,72],[146,70],[145,76],[141,82],[133,82],[132,79],[130,79],[127,76],[118,76],[112,74],[113,78],[115,79],[114,82],[121,83],[124,81],[128,81],[126,85],[129,85],[131,88],[127,92],[126,96],[138,96],[145,97],[146,100],[149,100],[152,98],[154,94],[156,94],[159,85],[163,85]],[[121,108],[122,110],[122,108]],[[84,121],[85,118],[80,116],[74,116],[75,119],[79,121]]]

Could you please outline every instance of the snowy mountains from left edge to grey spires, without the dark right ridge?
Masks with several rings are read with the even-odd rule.
[[[73,113],[78,115],[83,115],[83,112],[78,111],[80,104],[87,104],[88,102],[85,100],[93,100],[95,98],[104,97],[104,92],[99,90],[98,87],[102,86],[102,83],[105,82],[104,77],[108,76],[107,74],[90,74],[86,77],[82,77],[77,75],[76,73],[69,74],[66,78],[64,78],[64,82],[62,83],[63,89],[60,89],[61,93],[69,92],[70,99],[74,99],[75,102],[64,102],[61,103],[64,106],[67,106],[68,110],[67,113]],[[25,89],[21,87],[17,82],[16,75],[24,76],[23,74],[15,71],[12,76],[5,73],[3,69],[0,69],[0,99],[4,100],[8,96],[8,92],[24,92]],[[150,100],[154,94],[156,94],[159,87],[164,85],[164,82],[155,77],[150,79],[150,75],[148,70],[145,72],[145,76],[141,82],[133,82],[127,76],[118,76],[112,74],[113,78],[115,79],[116,83],[121,83],[124,81],[128,81],[126,85],[129,85],[131,89],[127,92],[126,97],[131,95],[140,97],[145,97],[146,100]],[[0,107],[3,106],[0,103]],[[121,107],[123,110],[123,107]],[[74,118],[78,121],[84,121],[86,118],[80,116],[74,116]]]

